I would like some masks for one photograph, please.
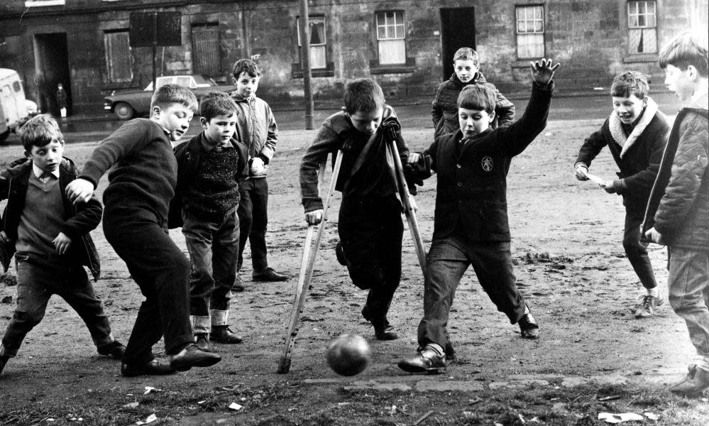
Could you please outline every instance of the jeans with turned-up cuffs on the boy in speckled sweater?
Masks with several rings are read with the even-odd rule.
[[[238,258],[238,216],[224,216],[221,222],[205,220],[182,212],[192,275],[189,278],[189,313],[207,317],[209,310],[229,310],[231,288],[236,280]],[[219,324],[226,325],[226,324]],[[207,333],[209,329],[195,329]]]

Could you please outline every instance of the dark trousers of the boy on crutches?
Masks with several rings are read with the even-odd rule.
[[[386,320],[401,280],[401,213],[395,195],[348,196],[340,205],[337,229],[347,270],[354,285],[369,290],[362,313],[372,322]]]

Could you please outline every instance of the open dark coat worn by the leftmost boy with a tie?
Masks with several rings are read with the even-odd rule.
[[[4,271],[9,268],[10,259],[15,253],[17,229],[25,207],[30,173],[32,173],[32,161],[27,158],[14,161],[9,168],[0,173],[0,200],[8,200],[0,223],[10,240],[9,244],[0,247],[0,261]],[[67,198],[66,188],[69,182],[76,178],[78,178],[76,165],[69,158],[63,158],[59,166],[59,189],[64,202],[65,222],[60,231],[72,239],[72,245],[64,256],[67,256],[71,262],[87,266],[94,280],[98,280],[101,275],[99,253],[89,231],[99,226],[103,209],[96,197],[92,197],[86,203],[72,204]]]

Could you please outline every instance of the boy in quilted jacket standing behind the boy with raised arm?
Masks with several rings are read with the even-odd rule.
[[[431,115],[434,122],[434,138],[458,130],[458,94],[469,84],[490,87],[495,92],[495,119],[490,126],[509,126],[515,121],[515,104],[502,96],[495,84],[487,82],[480,72],[480,58],[471,48],[460,48],[453,56],[453,70],[449,80],[442,82],[432,104]]]

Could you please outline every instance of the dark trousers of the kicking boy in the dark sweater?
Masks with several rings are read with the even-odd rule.
[[[123,362],[152,361],[153,345],[163,334],[167,354],[176,354],[194,342],[189,324],[189,261],[167,229],[136,218],[134,209],[107,207],[104,235],[145,296]]]

